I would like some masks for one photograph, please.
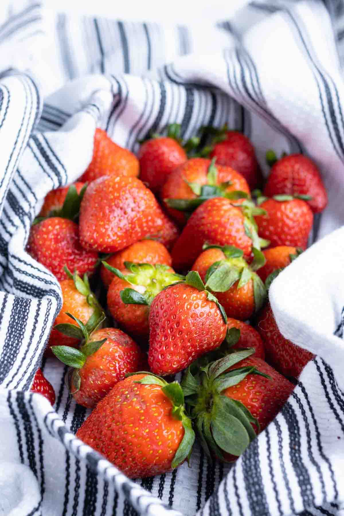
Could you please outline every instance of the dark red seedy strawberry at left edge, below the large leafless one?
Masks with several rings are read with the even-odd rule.
[[[52,217],[32,225],[26,251],[50,270],[59,281],[67,275],[65,265],[83,275],[94,272],[98,253],[80,245],[76,222]]]

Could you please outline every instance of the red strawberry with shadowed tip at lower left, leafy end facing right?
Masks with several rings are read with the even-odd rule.
[[[268,244],[258,238],[252,216],[265,212],[251,206],[251,201],[233,203],[218,197],[208,199],[196,209],[171,252],[172,264],[177,270],[190,267],[205,243],[238,247],[247,259],[253,246],[260,249],[260,246]]]

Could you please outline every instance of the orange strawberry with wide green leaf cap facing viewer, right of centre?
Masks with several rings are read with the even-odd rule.
[[[243,251],[233,246],[204,245],[203,253],[192,266],[214,293],[227,316],[246,320],[260,310],[266,300],[266,288],[256,270],[265,263],[264,254],[252,248],[251,265]]]

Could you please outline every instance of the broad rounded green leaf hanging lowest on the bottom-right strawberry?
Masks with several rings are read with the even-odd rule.
[[[243,424],[231,414],[217,415],[211,421],[212,436],[216,444],[227,453],[239,456],[250,444],[249,434]]]

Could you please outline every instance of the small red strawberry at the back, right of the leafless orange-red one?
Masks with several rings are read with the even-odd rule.
[[[188,158],[178,141],[179,132],[180,126],[171,124],[167,137],[153,135],[139,149],[140,179],[155,193],[160,190],[171,172]]]

